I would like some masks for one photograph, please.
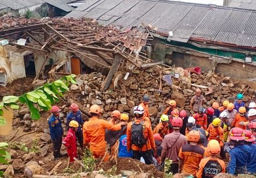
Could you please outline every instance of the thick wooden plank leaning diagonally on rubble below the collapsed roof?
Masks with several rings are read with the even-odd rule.
[[[114,76],[114,73],[116,73],[116,71],[118,70],[121,59],[122,59],[122,57],[119,54],[116,54],[116,56],[114,57],[113,64],[112,64],[112,66],[110,68],[110,71],[107,74],[107,77],[106,77],[106,80],[105,80],[105,84],[104,84],[104,87],[103,87],[104,91],[106,91],[107,88],[109,88],[109,86],[111,84],[111,81],[112,81],[112,78]]]

